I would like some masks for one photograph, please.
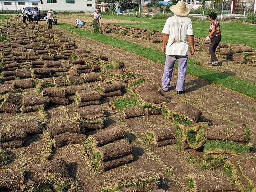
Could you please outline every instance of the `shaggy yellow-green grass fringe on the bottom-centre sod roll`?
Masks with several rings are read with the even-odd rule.
[[[127,173],[132,175],[131,173]],[[126,175],[127,175],[126,174]],[[137,173],[136,173],[137,174]],[[101,192],[116,192],[119,191],[120,189],[126,188],[126,187],[132,187],[132,186],[141,186],[145,187],[147,184],[151,182],[159,182],[160,177],[156,173],[148,173],[148,172],[143,172],[140,176],[127,176],[123,177],[119,180],[116,181],[114,185],[109,185],[106,187],[103,187],[101,189]]]

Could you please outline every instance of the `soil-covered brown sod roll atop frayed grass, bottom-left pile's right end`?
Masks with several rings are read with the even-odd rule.
[[[38,184],[47,182],[49,174],[56,174],[59,177],[70,177],[64,158],[57,158],[41,164],[33,164],[26,167],[26,175],[29,180]]]

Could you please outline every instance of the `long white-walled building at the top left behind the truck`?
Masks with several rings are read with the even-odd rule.
[[[20,11],[27,6],[39,6],[41,10],[92,13],[95,11],[95,0],[0,0],[0,11]]]

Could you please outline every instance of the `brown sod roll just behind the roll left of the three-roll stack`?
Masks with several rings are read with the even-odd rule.
[[[79,122],[52,125],[48,127],[47,131],[50,137],[60,135],[65,132],[85,133],[85,131],[80,128]]]

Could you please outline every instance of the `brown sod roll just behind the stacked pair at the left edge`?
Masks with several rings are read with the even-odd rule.
[[[15,120],[10,123],[10,130],[23,129],[27,135],[39,134],[42,132],[39,123],[36,120]]]

